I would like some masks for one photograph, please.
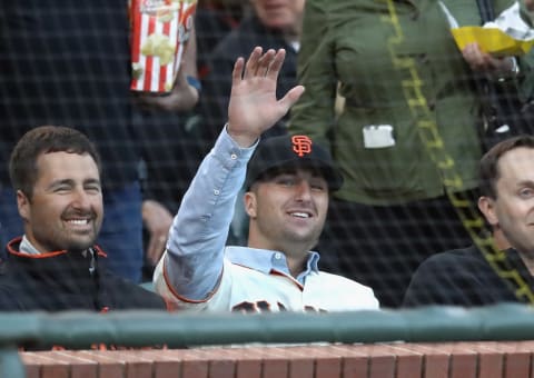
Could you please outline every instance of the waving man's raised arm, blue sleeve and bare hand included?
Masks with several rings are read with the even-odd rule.
[[[186,192],[156,268],[156,290],[169,300],[209,297],[222,273],[224,248],[246,165],[261,132],[281,118],[304,91],[276,99],[285,51],[254,49],[233,72],[228,123]]]

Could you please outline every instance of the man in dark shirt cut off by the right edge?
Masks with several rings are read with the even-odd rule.
[[[471,246],[431,257],[414,273],[404,306],[533,302],[534,137],[493,147],[479,163],[479,190],[478,209],[502,253]]]

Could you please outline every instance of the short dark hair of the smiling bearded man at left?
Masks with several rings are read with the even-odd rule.
[[[14,191],[21,190],[31,198],[39,173],[37,159],[50,152],[88,153],[101,172],[100,156],[82,132],[62,126],[40,126],[24,133],[11,152],[9,176]]]

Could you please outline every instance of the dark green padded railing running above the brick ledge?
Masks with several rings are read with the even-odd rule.
[[[532,340],[534,309],[505,304],[478,309],[337,314],[168,314],[116,311],[0,314],[0,377],[23,378],[22,345],[83,349],[92,344],[170,348],[248,342]]]

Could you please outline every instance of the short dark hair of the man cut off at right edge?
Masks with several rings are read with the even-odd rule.
[[[508,151],[526,147],[534,149],[534,137],[522,135],[505,139],[493,146],[481,159],[478,165],[478,188],[482,196],[497,198],[496,182],[501,177],[498,160]]]

